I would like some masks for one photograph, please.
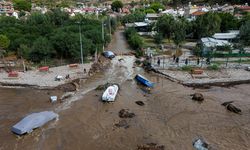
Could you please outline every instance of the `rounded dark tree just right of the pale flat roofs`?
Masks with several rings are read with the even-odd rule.
[[[157,20],[157,31],[162,33],[164,37],[170,39],[173,33],[174,17],[171,15],[163,15]]]

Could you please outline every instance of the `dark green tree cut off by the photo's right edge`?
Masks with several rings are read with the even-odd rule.
[[[250,46],[250,20],[240,27],[239,36],[243,45]]]

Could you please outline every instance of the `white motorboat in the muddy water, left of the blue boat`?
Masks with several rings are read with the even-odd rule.
[[[118,85],[109,86],[102,95],[102,101],[113,102],[119,90]]]

